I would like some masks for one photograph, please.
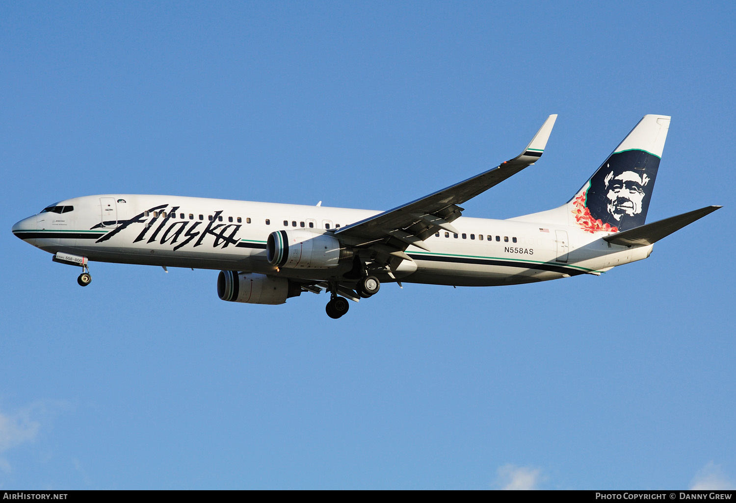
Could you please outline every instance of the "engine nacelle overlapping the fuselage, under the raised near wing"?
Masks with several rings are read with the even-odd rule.
[[[266,242],[266,258],[277,267],[329,269],[340,261],[340,242],[305,229],[276,231]]]

